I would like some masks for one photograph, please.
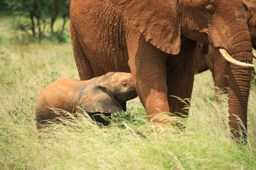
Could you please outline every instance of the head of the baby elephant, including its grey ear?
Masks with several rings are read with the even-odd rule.
[[[122,104],[137,97],[130,73],[109,72],[91,79],[79,94],[80,105],[85,111],[115,113],[122,111]]]

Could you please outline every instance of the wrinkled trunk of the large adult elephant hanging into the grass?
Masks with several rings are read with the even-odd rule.
[[[228,53],[240,62],[252,64],[253,54],[249,32],[243,37],[243,41],[241,41],[241,37],[235,35],[235,38],[232,39],[233,45],[229,48]],[[247,105],[251,75],[251,68],[228,63],[229,124],[233,136],[237,139],[241,139],[242,135],[243,139],[247,140]]]

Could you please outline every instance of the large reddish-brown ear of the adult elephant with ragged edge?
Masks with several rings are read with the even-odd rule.
[[[169,54],[180,52],[178,0],[111,0],[147,42]]]

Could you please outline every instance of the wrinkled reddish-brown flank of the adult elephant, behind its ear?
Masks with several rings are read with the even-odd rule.
[[[110,71],[130,72],[124,18],[110,2],[89,0],[82,5],[71,4],[70,17],[95,76]]]

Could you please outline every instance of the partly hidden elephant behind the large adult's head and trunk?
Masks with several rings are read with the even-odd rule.
[[[256,49],[256,0],[242,0],[247,25],[249,28],[253,48]],[[228,64],[218,50],[209,46],[207,55],[202,54],[203,45],[198,43],[195,54],[195,74],[208,69],[212,72],[215,85],[215,101],[218,102],[219,92],[227,93],[228,88]],[[253,74],[254,68],[252,68]],[[221,90],[221,91],[219,91]]]

